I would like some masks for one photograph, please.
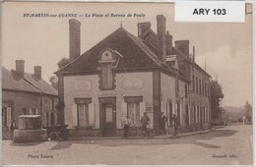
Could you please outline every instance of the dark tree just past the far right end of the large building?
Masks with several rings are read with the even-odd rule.
[[[220,102],[221,99],[224,98],[223,88],[217,81],[212,81],[210,83],[210,87],[212,118],[219,119],[222,115],[222,108]]]

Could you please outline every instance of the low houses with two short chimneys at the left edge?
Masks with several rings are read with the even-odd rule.
[[[3,138],[12,119],[18,125],[20,115],[41,115],[43,126],[58,124],[57,104],[58,92],[41,79],[40,66],[34,67],[34,74],[25,73],[24,60],[17,60],[11,72],[2,67]]]

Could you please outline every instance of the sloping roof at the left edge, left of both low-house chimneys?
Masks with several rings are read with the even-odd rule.
[[[33,87],[32,84],[27,83],[25,80],[4,67],[2,67],[2,88],[40,93],[40,91]]]

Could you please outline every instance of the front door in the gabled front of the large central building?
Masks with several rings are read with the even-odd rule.
[[[104,105],[104,123],[103,123],[103,136],[113,136],[113,106],[112,104]]]

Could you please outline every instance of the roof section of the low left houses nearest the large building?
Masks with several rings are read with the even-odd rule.
[[[33,74],[25,74],[24,79],[45,94],[50,94],[50,95],[58,94],[58,91],[55,88],[53,88],[49,83],[46,83],[42,79],[36,80],[33,77]]]

